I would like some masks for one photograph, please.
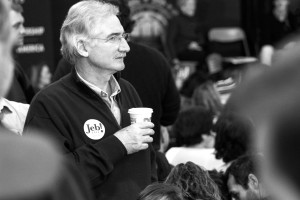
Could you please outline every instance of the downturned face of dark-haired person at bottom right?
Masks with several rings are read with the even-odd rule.
[[[248,187],[245,189],[242,185],[238,184],[235,181],[235,178],[232,175],[229,175],[227,181],[227,187],[231,194],[232,200],[258,200],[259,197],[256,192]]]

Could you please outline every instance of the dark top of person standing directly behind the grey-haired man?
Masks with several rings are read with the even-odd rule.
[[[160,146],[160,125],[174,123],[180,108],[179,93],[174,83],[170,66],[163,55],[155,49],[129,43],[130,52],[125,57],[122,78],[129,81],[137,90],[143,105],[153,109],[155,149]],[[70,73],[72,65],[61,59],[53,81]]]

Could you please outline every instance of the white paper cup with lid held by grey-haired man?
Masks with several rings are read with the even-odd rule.
[[[131,108],[128,110],[131,124],[138,122],[151,122],[152,108]]]

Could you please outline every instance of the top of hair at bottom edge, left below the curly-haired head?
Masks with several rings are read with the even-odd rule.
[[[182,191],[175,185],[153,183],[148,185],[137,200],[184,200]]]

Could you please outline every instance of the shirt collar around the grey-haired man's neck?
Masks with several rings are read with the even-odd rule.
[[[96,85],[94,85],[94,84],[88,82],[87,80],[85,80],[84,78],[82,78],[82,76],[80,76],[80,74],[77,71],[76,71],[76,74],[83,83],[85,83],[89,88],[94,90],[101,97],[103,97],[103,98],[108,97],[108,94],[105,91],[101,90]],[[121,87],[114,76],[111,76],[108,84],[110,85],[111,90],[112,90],[111,96],[116,96],[117,94],[119,94],[121,92]]]

